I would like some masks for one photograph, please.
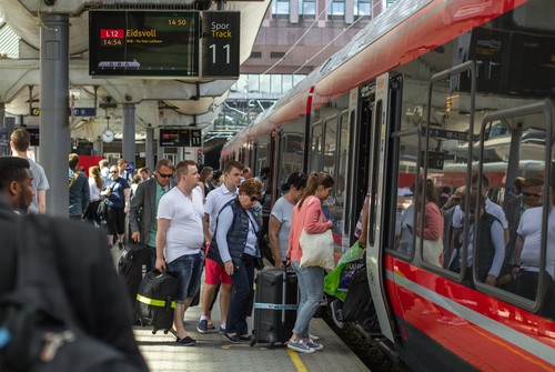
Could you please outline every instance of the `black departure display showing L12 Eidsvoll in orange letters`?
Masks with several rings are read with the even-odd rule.
[[[199,11],[89,12],[92,77],[199,77]]]

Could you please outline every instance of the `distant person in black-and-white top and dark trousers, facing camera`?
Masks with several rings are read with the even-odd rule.
[[[123,249],[125,233],[125,214],[129,210],[131,187],[121,178],[117,165],[110,167],[110,179],[102,185],[100,197],[105,198],[105,220],[108,228],[108,247],[112,248],[113,235],[118,235],[118,248]]]

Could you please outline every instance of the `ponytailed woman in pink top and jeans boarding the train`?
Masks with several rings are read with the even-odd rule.
[[[332,189],[333,178],[329,173],[311,173],[291,218],[286,257],[296,273],[301,299],[293,335],[287,342],[287,348],[302,353],[313,353],[324,348],[309,338],[309,323],[324,295],[324,270],[319,267],[299,267],[303,255],[300,244],[301,232],[304,229],[307,233],[316,234],[333,228],[333,223],[326,221],[322,211],[322,201],[327,199]]]

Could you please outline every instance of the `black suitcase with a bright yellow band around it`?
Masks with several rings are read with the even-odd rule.
[[[178,279],[168,272],[153,270],[144,275],[135,302],[135,315],[142,326],[151,325],[152,333],[172,329],[178,285]]]

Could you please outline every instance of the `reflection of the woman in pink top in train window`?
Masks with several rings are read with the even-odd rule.
[[[425,199],[424,199],[425,194]],[[424,233],[422,233],[422,213],[421,205],[425,200],[424,207]],[[422,258],[427,263],[436,267],[443,267],[443,214],[440,211],[440,200],[435,191],[434,181],[427,179],[426,182],[420,182],[420,193],[416,195],[416,208],[418,219],[416,223],[416,235],[424,238]],[[420,249],[420,245],[416,247]]]

